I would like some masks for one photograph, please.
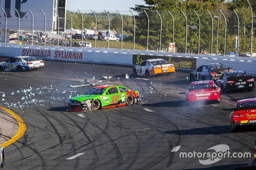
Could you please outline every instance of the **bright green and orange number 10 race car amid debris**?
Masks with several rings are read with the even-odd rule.
[[[93,87],[83,95],[68,100],[68,111],[97,110],[140,102],[138,91],[132,91],[119,85],[101,85]]]

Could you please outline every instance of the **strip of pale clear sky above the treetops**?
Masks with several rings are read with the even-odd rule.
[[[143,0],[67,0],[67,10],[129,11],[135,4],[146,5]]]

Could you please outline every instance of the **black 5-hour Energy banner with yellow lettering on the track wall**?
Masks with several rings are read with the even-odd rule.
[[[139,65],[144,60],[161,58],[168,63],[173,63],[177,69],[196,70],[196,58],[173,57],[173,56],[154,56],[154,55],[132,55],[132,65]]]

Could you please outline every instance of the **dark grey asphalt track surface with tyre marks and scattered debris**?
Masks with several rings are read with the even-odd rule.
[[[134,77],[131,66],[44,63],[45,68],[36,71],[0,73],[0,91],[5,93],[4,97],[0,95],[1,106],[15,112],[26,124],[24,135],[4,148],[3,169],[216,170],[245,166],[251,160],[226,157],[202,165],[199,159],[208,158],[180,158],[180,153],[212,153],[214,150],[207,150],[225,144],[231,153],[253,155],[256,128],[242,127],[232,133],[229,114],[236,100],[255,97],[256,90],[224,94],[219,104],[187,106],[190,71],[145,78]],[[125,79],[126,73],[131,74],[129,79]],[[144,103],[67,112],[70,96],[92,88],[70,85],[90,83],[138,90]]]

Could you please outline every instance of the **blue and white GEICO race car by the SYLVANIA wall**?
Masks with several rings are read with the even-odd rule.
[[[42,59],[29,56],[12,57],[0,63],[0,71],[26,71],[44,68]]]

